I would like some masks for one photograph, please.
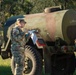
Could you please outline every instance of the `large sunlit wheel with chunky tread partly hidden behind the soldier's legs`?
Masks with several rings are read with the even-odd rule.
[[[42,75],[42,58],[38,51],[31,46],[25,46],[25,68],[24,75]],[[11,69],[14,74],[14,57],[11,60]]]

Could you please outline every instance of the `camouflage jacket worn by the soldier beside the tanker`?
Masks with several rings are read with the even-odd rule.
[[[20,28],[18,28],[18,26],[12,28],[11,41],[12,44],[16,46],[24,46],[26,44],[25,33]]]

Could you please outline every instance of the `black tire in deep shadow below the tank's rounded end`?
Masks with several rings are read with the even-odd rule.
[[[51,75],[73,75],[75,71],[74,54],[52,55]]]

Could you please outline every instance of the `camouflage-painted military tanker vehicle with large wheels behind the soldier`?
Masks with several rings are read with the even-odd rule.
[[[76,11],[62,10],[59,7],[46,8],[43,13],[10,17],[0,29],[2,41],[0,55],[11,58],[11,30],[18,18],[26,21],[24,75],[73,75],[76,63]],[[38,32],[35,32],[37,29]],[[3,32],[2,32],[3,31]],[[32,34],[32,35],[28,35]],[[60,38],[60,39],[58,39]],[[48,59],[47,59],[48,58]],[[43,60],[43,61],[42,61]],[[61,62],[60,62],[61,61]],[[27,66],[27,67],[26,67]],[[15,62],[12,58],[11,70],[14,74]]]

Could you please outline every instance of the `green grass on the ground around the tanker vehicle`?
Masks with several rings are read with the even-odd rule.
[[[10,67],[10,59],[3,60],[0,57],[0,75],[12,75]],[[42,75],[44,75],[44,70]],[[76,75],[76,71],[73,75]]]

